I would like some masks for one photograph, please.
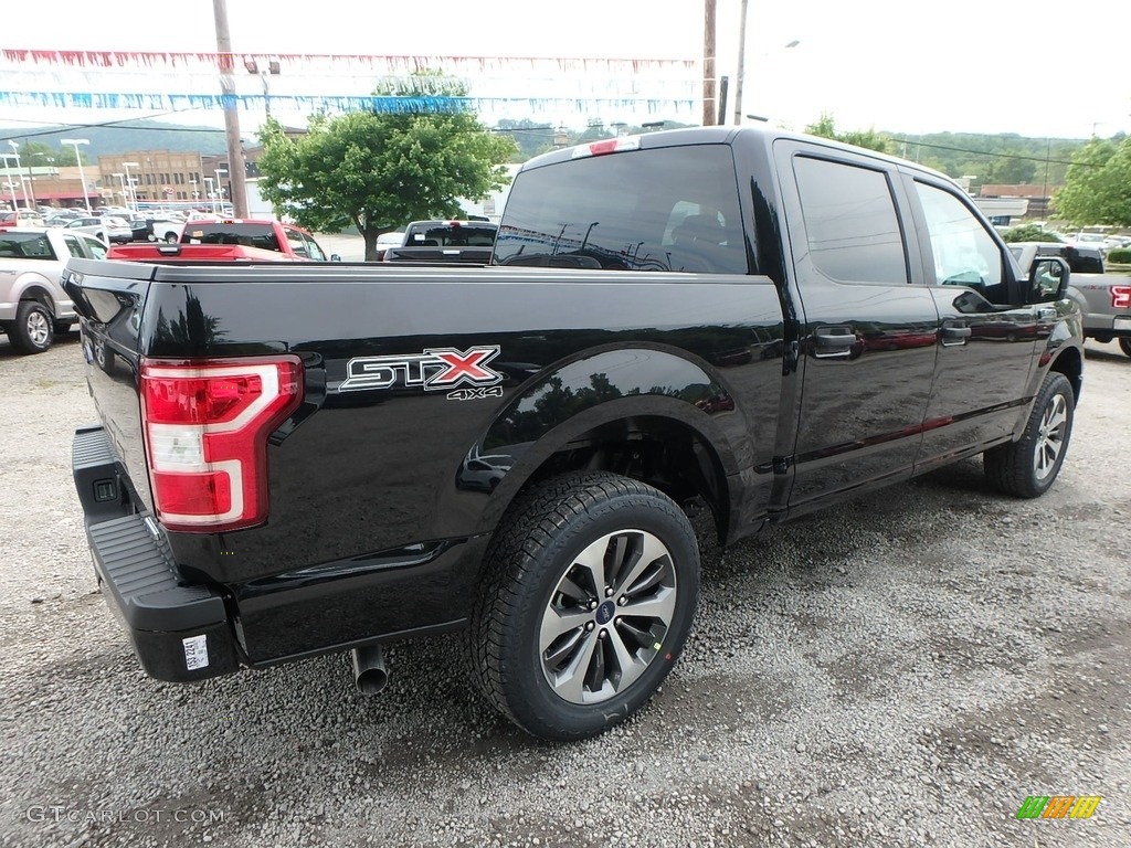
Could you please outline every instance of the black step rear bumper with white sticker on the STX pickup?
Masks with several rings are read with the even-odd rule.
[[[143,668],[187,682],[234,672],[240,652],[224,596],[187,585],[157,522],[122,507],[122,484],[102,427],[75,432],[71,471],[103,597]]]

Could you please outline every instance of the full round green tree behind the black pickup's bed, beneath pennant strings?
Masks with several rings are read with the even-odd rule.
[[[288,138],[271,120],[259,133],[264,198],[309,230],[353,224],[365,240],[366,260],[377,258],[381,233],[411,220],[459,217],[460,198],[475,200],[502,188],[501,163],[515,150],[460,102],[463,85],[434,72],[375,94],[415,111],[314,115],[299,138]]]

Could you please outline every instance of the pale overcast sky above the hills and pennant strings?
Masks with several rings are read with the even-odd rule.
[[[716,72],[727,76],[726,121],[734,121],[741,0],[716,0]],[[1112,7],[1115,8],[1115,7]],[[295,14],[297,12],[297,14]],[[927,132],[1015,132],[1030,137],[1111,137],[1131,131],[1126,14],[1089,12],[1034,0],[749,0],[742,114],[803,130],[822,114],[839,130],[877,129],[908,138]],[[138,6],[133,0],[53,0],[55,25],[42,7],[9,3],[6,50],[214,52],[213,0]],[[360,54],[460,58],[446,70],[473,96],[492,98],[486,123],[500,116],[584,127],[599,118],[640,123],[698,123],[702,107],[703,3],[700,0],[228,0],[236,53]],[[786,44],[796,42],[795,46]],[[473,58],[500,58],[474,62]],[[519,58],[581,62],[521,62]],[[602,63],[597,60],[651,60]],[[284,62],[269,80],[274,112],[303,120],[307,104],[282,98],[365,95],[381,63]],[[397,66],[399,67],[399,66]],[[261,94],[240,69],[236,90]],[[162,110],[14,105],[5,92],[218,93],[202,68],[109,70],[0,61],[0,135],[19,127],[80,128]],[[633,109],[632,104],[649,105]],[[162,120],[222,126],[219,110],[187,110]],[[260,107],[241,112],[250,137]],[[750,122],[750,119],[742,119]]]

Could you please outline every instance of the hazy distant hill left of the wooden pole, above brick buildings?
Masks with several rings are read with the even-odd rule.
[[[174,150],[202,154],[224,154],[227,150],[224,130],[210,127],[184,127],[158,121],[122,121],[109,127],[84,127],[58,130],[53,127],[0,127],[0,144],[38,141],[55,146],[63,138],[86,138],[90,146],[83,155],[97,161],[100,155],[129,153],[130,150]],[[7,149],[7,148],[6,148]]]

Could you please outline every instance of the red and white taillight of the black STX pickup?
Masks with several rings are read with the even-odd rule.
[[[267,436],[302,401],[295,356],[141,362],[154,508],[171,530],[267,520]]]

